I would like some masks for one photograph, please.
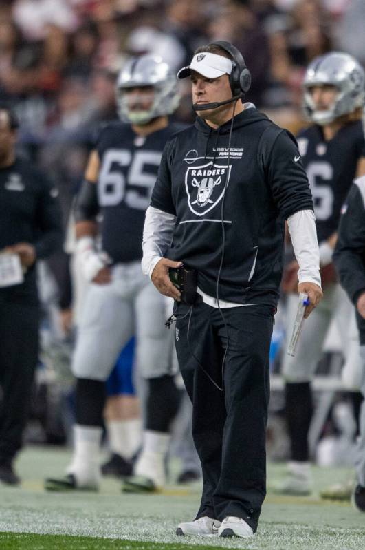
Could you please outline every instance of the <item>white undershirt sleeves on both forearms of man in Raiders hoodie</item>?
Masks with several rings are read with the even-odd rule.
[[[312,282],[320,286],[320,255],[313,211],[300,210],[287,221],[299,264],[299,282]],[[143,231],[142,270],[150,278],[155,265],[164,257],[173,241],[175,223],[175,215],[148,207]]]

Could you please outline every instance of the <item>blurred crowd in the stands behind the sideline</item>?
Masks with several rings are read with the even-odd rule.
[[[66,219],[93,132],[115,117],[127,56],[153,52],[177,70],[199,45],[231,41],[252,72],[248,99],[296,131],[305,67],[335,49],[365,63],[364,19],[362,0],[3,0],[0,101],[16,109],[21,149],[54,178]],[[189,122],[181,94],[176,116]]]

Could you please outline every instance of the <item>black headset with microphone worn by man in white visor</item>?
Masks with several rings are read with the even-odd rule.
[[[221,105],[227,105],[236,101],[237,99],[243,98],[245,93],[248,92],[251,86],[251,73],[247,69],[245,60],[241,52],[228,41],[220,40],[218,42],[212,42],[210,45],[219,46],[222,50],[232,56],[232,72],[229,74],[230,78],[230,87],[232,89],[232,98],[225,101],[217,101],[214,103],[206,103],[205,105],[192,105],[192,108],[195,111],[205,111],[207,109],[216,109],[221,107]]]

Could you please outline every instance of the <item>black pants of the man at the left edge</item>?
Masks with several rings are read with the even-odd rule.
[[[0,296],[0,463],[21,448],[38,360],[39,308]]]

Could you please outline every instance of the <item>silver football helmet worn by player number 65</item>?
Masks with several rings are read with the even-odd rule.
[[[151,107],[131,109],[126,89],[145,86],[153,87]],[[161,57],[146,54],[129,59],[118,76],[116,98],[118,113],[124,122],[147,124],[153,118],[171,114],[177,109],[176,76]]]

